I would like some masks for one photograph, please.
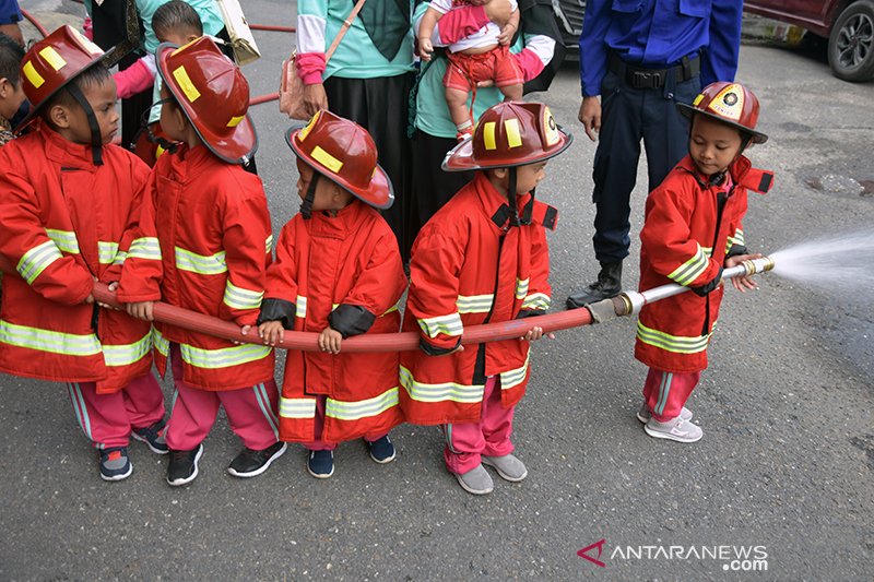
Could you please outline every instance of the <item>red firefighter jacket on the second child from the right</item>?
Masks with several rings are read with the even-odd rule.
[[[530,194],[517,202],[522,215],[533,215],[532,224],[510,227],[506,198],[485,173],[477,173],[416,238],[403,329],[420,332],[422,349],[401,354],[401,407],[410,423],[479,420],[491,376],[500,377],[505,407],[524,394],[528,342],[507,340],[428,355],[452,351],[465,325],[510,321],[550,307],[543,226],[553,228],[557,213]]]

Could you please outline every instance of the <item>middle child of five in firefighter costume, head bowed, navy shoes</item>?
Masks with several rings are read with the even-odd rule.
[[[406,288],[398,242],[377,212],[394,201],[367,130],[319,111],[285,136],[297,156],[300,213],[282,229],[268,270],[259,332],[319,333],[321,352],[288,351],[280,438],[309,450],[307,471],[333,475],[333,450],[364,437],[377,463],[394,459],[389,430],[401,420],[397,353],[341,354],[342,340],[400,329]]]

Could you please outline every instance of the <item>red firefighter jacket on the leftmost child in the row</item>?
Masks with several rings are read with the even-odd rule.
[[[149,168],[115,145],[91,145],[38,123],[0,149],[0,370],[114,392],[152,366],[151,325],[85,305],[94,280],[118,281]]]

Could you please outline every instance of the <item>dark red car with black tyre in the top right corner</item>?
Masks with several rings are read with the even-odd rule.
[[[828,38],[838,79],[874,79],[874,0],[746,0],[744,10]]]

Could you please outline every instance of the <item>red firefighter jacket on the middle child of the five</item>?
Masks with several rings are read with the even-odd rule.
[[[282,229],[268,269],[262,321],[344,337],[394,333],[406,287],[394,234],[377,211],[355,200],[335,216],[298,214]],[[398,406],[398,353],[327,354],[290,349],[280,399],[280,438],[315,438],[316,396],[324,394],[321,438],[342,442],[388,432]]]

